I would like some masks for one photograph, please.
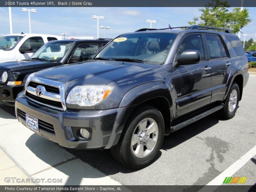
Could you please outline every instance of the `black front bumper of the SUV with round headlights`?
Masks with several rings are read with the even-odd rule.
[[[17,95],[23,89],[24,89],[24,85],[15,85],[15,86],[0,85],[0,103],[14,106]]]

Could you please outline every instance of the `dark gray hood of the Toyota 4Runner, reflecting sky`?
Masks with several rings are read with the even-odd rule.
[[[116,79],[158,67],[159,65],[154,64],[92,60],[48,68],[37,72],[35,76],[65,83],[69,89],[74,85],[108,84]]]

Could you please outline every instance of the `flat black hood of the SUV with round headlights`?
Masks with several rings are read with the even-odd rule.
[[[37,61],[37,60],[22,60],[22,61],[10,61],[0,63],[0,69],[5,69],[8,71],[21,71],[27,69],[36,68],[48,68],[60,65],[57,62],[47,62],[47,61]]]

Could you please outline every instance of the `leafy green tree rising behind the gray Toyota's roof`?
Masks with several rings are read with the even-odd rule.
[[[212,3],[199,9],[202,12],[200,17],[194,17],[193,21],[188,21],[188,23],[190,25],[226,28],[237,33],[252,21],[249,18],[248,9],[240,12],[240,8],[234,8],[229,11],[227,7],[230,7],[227,1],[212,0]]]

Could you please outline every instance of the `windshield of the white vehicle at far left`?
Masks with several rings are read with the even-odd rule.
[[[0,37],[0,49],[9,51],[15,47],[15,45],[22,39],[23,36],[1,36]]]

